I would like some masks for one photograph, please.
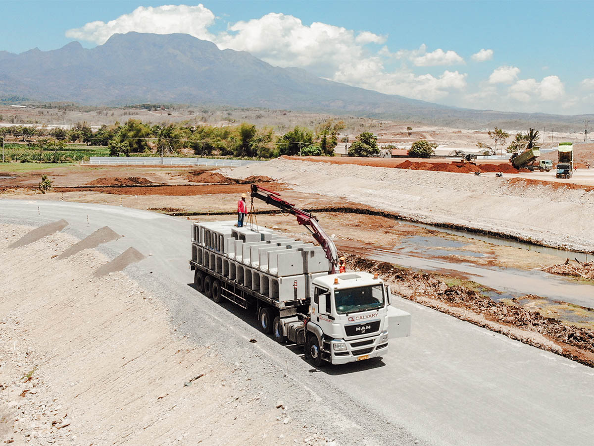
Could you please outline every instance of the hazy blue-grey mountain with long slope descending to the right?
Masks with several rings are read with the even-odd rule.
[[[113,34],[85,49],[0,51],[0,99],[85,105],[180,103],[292,109],[441,125],[581,125],[592,115],[471,110],[348,86],[280,68],[245,51],[220,50],[189,34]],[[495,124],[494,124],[495,123]],[[561,128],[560,128],[561,130]]]

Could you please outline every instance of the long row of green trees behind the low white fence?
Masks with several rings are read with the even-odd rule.
[[[279,155],[334,155],[339,133],[345,128],[340,120],[329,119],[314,129],[295,127],[282,136],[273,128],[254,124],[215,127],[184,123],[150,124],[129,119],[124,124],[102,125],[91,129],[87,123],[64,128],[34,128],[24,125],[0,127],[0,136],[30,147],[63,148],[65,143],[108,147],[111,156],[131,153],[175,155],[193,151],[198,156],[238,158],[275,158]]]

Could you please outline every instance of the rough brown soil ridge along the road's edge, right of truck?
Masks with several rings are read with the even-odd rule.
[[[495,302],[475,291],[448,286],[432,275],[397,268],[391,263],[353,254],[346,258],[350,268],[377,272],[406,299],[594,367],[593,329],[564,325],[538,311]]]

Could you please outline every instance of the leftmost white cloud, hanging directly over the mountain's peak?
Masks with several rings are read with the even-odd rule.
[[[69,29],[67,37],[88,40],[99,45],[115,33],[191,34],[198,39],[212,40],[208,27],[214,23],[214,14],[203,5],[163,5],[138,7],[130,14],[120,15],[107,23],[91,21],[83,27]]]

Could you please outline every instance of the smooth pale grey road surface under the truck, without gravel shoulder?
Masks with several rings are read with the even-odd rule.
[[[152,254],[138,267],[158,272],[175,288],[176,304],[201,306],[238,334],[257,336],[252,325],[212,301],[197,300],[187,286],[189,221],[113,206],[0,199],[0,221],[60,218],[70,224],[65,231],[81,236],[104,225],[124,234],[109,249],[121,253],[134,246]],[[369,416],[383,416],[394,439],[401,429],[428,444],[594,444],[594,369],[410,301],[397,299],[396,306],[412,313],[412,336],[393,340],[380,362],[312,374],[290,348],[266,339],[258,346],[271,360],[287,363],[304,385],[322,380],[328,395],[339,389],[368,407]],[[366,434],[358,429],[352,435]]]

